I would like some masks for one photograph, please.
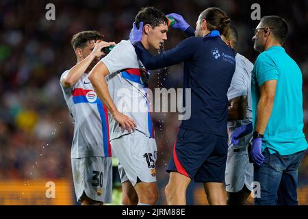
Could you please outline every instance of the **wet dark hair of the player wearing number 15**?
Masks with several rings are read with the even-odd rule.
[[[157,10],[154,7],[142,8],[135,17],[136,26],[139,28],[140,22],[143,25],[149,24],[152,28],[159,26],[160,24],[168,23],[168,19],[164,12]]]

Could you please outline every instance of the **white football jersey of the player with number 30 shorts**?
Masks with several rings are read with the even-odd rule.
[[[73,87],[64,88],[61,81],[67,74],[68,70],[62,74],[60,85],[74,119],[71,158],[112,157],[107,107],[94,91],[88,74],[84,73]]]

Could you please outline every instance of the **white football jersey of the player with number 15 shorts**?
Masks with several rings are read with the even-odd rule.
[[[108,90],[119,112],[135,120],[138,131],[154,138],[150,103],[146,93],[149,74],[138,61],[131,41],[122,40],[101,62],[110,72],[106,80]],[[110,140],[128,133],[127,130],[123,132],[116,120],[110,116]]]

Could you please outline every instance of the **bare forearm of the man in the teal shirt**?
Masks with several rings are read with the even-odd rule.
[[[274,98],[261,97],[257,105],[257,123],[255,131],[264,134],[270,115],[272,114],[272,107],[274,105]]]

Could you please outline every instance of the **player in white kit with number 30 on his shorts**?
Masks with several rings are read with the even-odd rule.
[[[77,64],[66,70],[60,85],[74,119],[71,162],[75,194],[81,205],[112,202],[112,151],[107,108],[88,80],[88,72],[99,62],[104,47],[97,31],[82,31],[72,39]]]

